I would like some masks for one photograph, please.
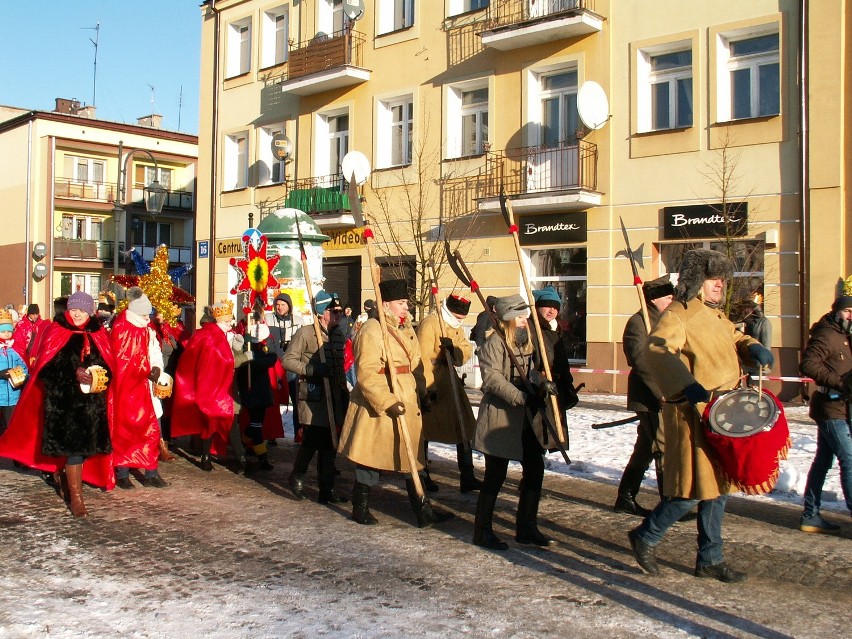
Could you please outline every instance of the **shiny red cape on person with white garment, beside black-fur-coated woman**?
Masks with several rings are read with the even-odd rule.
[[[112,323],[112,389],[121,398],[112,425],[112,458],[115,466],[156,470],[160,454],[160,425],[154,413],[151,386],[150,339],[147,326],[127,320],[127,311]]]

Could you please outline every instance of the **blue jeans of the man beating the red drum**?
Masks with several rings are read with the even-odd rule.
[[[698,558],[695,565],[712,566],[724,561],[722,556],[722,518],[728,495],[715,499],[679,499],[665,497],[636,529],[639,539],[649,546],[663,540],[669,528],[698,504]]]

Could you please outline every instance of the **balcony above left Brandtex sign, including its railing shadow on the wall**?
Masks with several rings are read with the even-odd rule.
[[[547,148],[530,146],[489,152],[484,173],[442,185],[444,201],[500,210],[500,192],[517,213],[566,213],[599,206],[598,148],[579,140]]]

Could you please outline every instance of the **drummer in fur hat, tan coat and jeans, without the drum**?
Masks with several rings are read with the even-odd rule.
[[[733,264],[717,251],[696,249],[683,259],[675,299],[648,336],[645,357],[663,397],[664,498],[629,533],[642,568],[659,573],[655,547],[698,505],[695,576],[733,583],[746,574],[725,563],[722,519],[730,486],[704,435],[702,415],[713,395],[736,388],[740,363],[771,367],[771,351],[740,333],[721,304]]]

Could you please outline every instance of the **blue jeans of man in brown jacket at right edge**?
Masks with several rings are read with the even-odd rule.
[[[817,422],[817,452],[805,485],[804,517],[819,514],[822,486],[835,457],[840,464],[840,486],[846,507],[852,512],[852,424],[845,419],[827,419]]]

